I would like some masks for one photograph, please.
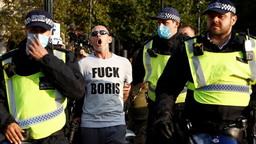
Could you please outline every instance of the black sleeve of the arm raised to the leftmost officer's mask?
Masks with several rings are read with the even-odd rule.
[[[84,96],[85,80],[74,54],[66,52],[66,63],[53,54],[47,54],[40,63],[42,72],[64,96],[72,100]]]

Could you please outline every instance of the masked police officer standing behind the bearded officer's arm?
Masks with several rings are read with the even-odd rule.
[[[178,32],[180,14],[174,8],[164,8],[158,13],[158,16],[152,17],[150,20],[157,20],[158,34],[147,40],[138,52],[132,68],[133,84],[144,82],[148,83],[149,86],[148,95],[146,96],[149,108],[146,144],[170,143],[173,142],[173,138],[178,138],[178,136],[166,138],[155,132],[153,128],[156,82],[174,49],[182,40],[189,37]],[[186,90],[182,93],[184,92]],[[177,100],[178,109],[182,111],[185,94]],[[182,138],[177,142],[181,141]]]

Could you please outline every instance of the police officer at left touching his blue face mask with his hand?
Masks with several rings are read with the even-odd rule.
[[[27,38],[0,57],[0,132],[11,143],[30,131],[34,144],[68,144],[63,127],[67,99],[85,93],[85,81],[74,54],[49,48],[53,18],[44,10],[26,15]]]

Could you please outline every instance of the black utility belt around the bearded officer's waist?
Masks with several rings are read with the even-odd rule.
[[[195,126],[193,126],[195,124]],[[240,116],[235,121],[223,121],[223,122],[190,122],[186,120],[186,127],[190,131],[190,134],[200,133],[198,129],[202,130],[201,133],[208,132],[210,135],[225,135],[230,136],[239,142],[243,138],[247,137],[247,119]]]

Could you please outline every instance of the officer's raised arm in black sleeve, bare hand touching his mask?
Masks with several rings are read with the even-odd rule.
[[[35,35],[34,39],[35,41],[28,37],[32,45],[27,43],[30,49],[27,52],[39,62],[44,75],[64,96],[74,100],[82,98],[85,93],[85,81],[74,54],[65,51],[66,60],[64,63],[63,60],[52,54],[52,50],[46,50],[47,47],[43,48]],[[64,51],[61,48],[59,50]]]

